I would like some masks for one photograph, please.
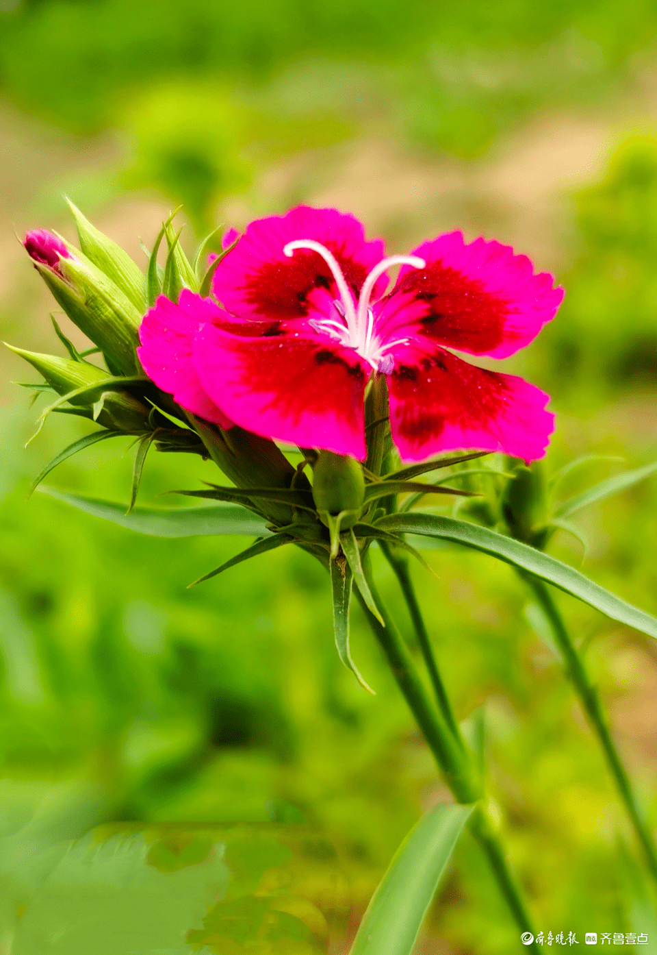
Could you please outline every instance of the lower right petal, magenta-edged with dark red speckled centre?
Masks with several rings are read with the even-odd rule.
[[[525,461],[544,456],[554,414],[545,411],[549,395],[539,388],[442,349],[420,355],[401,347],[395,361],[390,427],[404,460],[462,450],[502,451]]]

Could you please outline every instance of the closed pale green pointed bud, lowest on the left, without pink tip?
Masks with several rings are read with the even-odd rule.
[[[85,361],[72,361],[70,358],[59,358],[57,355],[39,354],[36,351],[26,351],[7,346],[14,354],[20,355],[30,362],[57,394],[68,394],[78,388],[93,385],[94,382],[104,382],[108,378],[107,371],[96,368]],[[122,389],[108,390],[107,386],[99,384],[97,388],[77,394],[71,398],[72,405],[85,408],[89,417],[98,421],[105,428],[113,431],[143,432],[150,431],[150,409],[142,404],[138,398]]]

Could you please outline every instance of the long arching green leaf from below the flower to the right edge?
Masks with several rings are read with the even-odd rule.
[[[479,524],[434,514],[391,514],[377,521],[377,526],[394,534],[424,534],[444,541],[462,543],[481,550],[500,561],[520,567],[565,593],[594,606],[612,620],[633,626],[657,638],[657,619],[644,610],[627,604],[600,584],[594,584],[579,570],[569,567],[543,551],[521,541],[504,537]]]

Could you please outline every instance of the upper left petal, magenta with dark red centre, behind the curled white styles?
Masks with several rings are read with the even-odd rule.
[[[235,230],[230,234],[236,238]],[[338,299],[331,270],[317,252],[298,249],[291,258],[284,255],[284,246],[299,239],[312,239],[333,253],[357,299],[367,273],[384,255],[383,241],[366,242],[354,216],[299,205],[285,216],[257,219],[247,226],[217,265],[213,292],[218,301],[240,318],[291,319],[308,314],[308,298],[315,289],[327,288]],[[376,296],[386,284],[381,277]]]

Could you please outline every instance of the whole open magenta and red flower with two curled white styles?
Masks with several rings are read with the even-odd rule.
[[[563,289],[509,246],[450,232],[385,258],[353,216],[298,206],[250,223],[213,291],[222,307],[160,297],[140,329],[144,369],[194,414],[362,460],[365,388],[382,374],[403,459],[544,456],[548,395],[450,350],[505,358],[554,317]]]

